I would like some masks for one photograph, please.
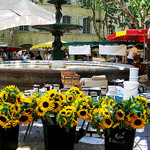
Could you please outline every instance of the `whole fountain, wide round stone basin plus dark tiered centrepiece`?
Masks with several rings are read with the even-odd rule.
[[[61,72],[73,71],[81,78],[89,78],[93,75],[106,75],[108,81],[114,79],[128,80],[129,69],[133,66],[119,63],[94,62],[94,61],[64,61],[64,51],[62,50],[61,36],[69,30],[80,30],[82,26],[74,24],[60,23],[62,18],[61,5],[66,4],[67,0],[48,0],[48,3],[56,7],[56,23],[50,25],[33,26],[39,30],[46,30],[53,34],[52,61],[3,61],[0,62],[0,88],[7,85],[16,85],[21,91],[32,89],[34,84],[41,87],[44,83],[62,84]],[[49,68],[49,63],[62,61],[66,63],[66,68]],[[56,67],[54,67],[56,68]]]

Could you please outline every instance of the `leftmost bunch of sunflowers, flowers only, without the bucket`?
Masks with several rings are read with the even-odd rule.
[[[34,118],[33,105],[32,99],[25,98],[16,86],[6,86],[0,91],[0,126],[29,124]]]

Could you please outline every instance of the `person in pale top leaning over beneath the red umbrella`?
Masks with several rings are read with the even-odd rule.
[[[138,50],[138,46],[134,46],[129,50],[129,54],[127,56],[127,63],[128,64],[133,64],[135,63],[134,59],[137,55],[137,50]]]

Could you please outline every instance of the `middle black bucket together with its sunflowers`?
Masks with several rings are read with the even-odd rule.
[[[92,120],[91,98],[72,87],[65,95],[52,89],[35,99],[36,115],[43,121],[45,149],[73,150],[79,119]]]

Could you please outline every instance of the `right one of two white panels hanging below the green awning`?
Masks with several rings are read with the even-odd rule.
[[[99,45],[99,54],[102,55],[126,55],[126,45]]]

